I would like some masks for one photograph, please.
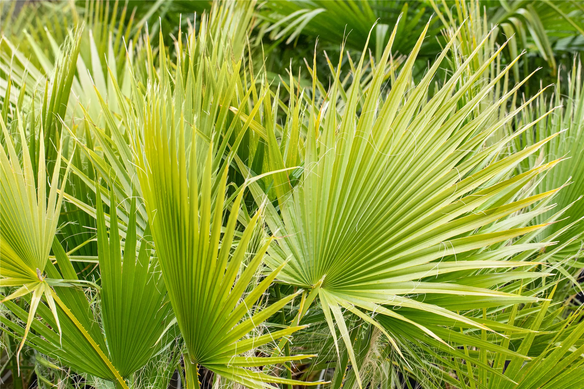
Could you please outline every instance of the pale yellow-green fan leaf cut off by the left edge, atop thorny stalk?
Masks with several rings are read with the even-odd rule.
[[[16,115],[20,144],[26,145],[23,119],[19,117],[18,111]],[[44,282],[43,272],[61,211],[62,194],[57,194],[61,149],[58,151],[58,159],[54,166],[47,197],[47,171],[42,142],[37,164],[38,176],[35,181],[29,153],[26,151],[22,153],[21,167],[12,136],[2,118],[0,118],[0,125],[5,139],[5,145],[0,148],[0,220],[2,220],[0,223],[0,276],[2,276],[0,283],[2,286],[20,286],[11,295],[4,297],[3,302],[33,293],[23,336],[23,339],[26,339],[43,295],[53,311],[55,324],[60,331],[53,295],[47,283]],[[41,129],[41,139],[42,134]],[[8,153],[4,147],[8,149]],[[65,171],[64,181],[67,180],[67,173],[68,169]],[[23,344],[24,342],[20,344],[18,352]]]

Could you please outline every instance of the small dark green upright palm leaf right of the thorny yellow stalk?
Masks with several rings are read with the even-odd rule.
[[[148,241],[140,242],[136,255],[135,197],[131,200],[123,261],[117,223],[110,223],[110,239],[107,238],[99,191],[97,205],[103,327],[113,365],[121,376],[127,377],[146,365],[157,352],[158,341],[169,321],[166,316],[170,307],[165,304],[166,288],[155,269],[157,264],[149,263]],[[116,208],[115,204],[110,207],[113,220],[117,219]]]

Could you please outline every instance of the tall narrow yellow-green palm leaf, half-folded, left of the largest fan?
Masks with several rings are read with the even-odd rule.
[[[147,121],[144,133],[140,136],[144,143],[135,145],[138,177],[162,275],[185,339],[187,372],[195,369],[191,364],[200,364],[221,376],[256,388],[267,387],[263,384],[265,382],[296,383],[294,380],[279,379],[238,367],[240,364],[249,366],[250,362],[248,359],[239,362],[234,358],[301,328],[291,327],[273,334],[240,340],[294,297],[285,297],[246,318],[248,310],[258,302],[284,267],[282,264],[274,269],[258,286],[244,295],[270,244],[270,240],[263,244],[248,268],[237,278],[260,212],[250,220],[241,239],[235,241],[238,211],[244,194],[244,191],[240,191],[223,229],[223,193],[227,170],[223,169],[217,178],[218,190],[213,201],[213,143],[207,145],[208,151],[201,169],[203,177],[199,178],[198,136],[193,134],[187,147],[183,122],[178,123],[178,128],[169,128],[165,120],[165,108],[171,107],[161,106],[155,95],[147,97],[150,100],[144,108]],[[172,114],[172,110],[169,114]],[[188,159],[187,149],[190,149]],[[220,240],[222,232],[223,239]],[[234,245],[236,248],[231,251]],[[293,356],[288,360],[304,358],[307,356]],[[266,365],[270,362],[269,359],[263,359],[263,362],[256,363]],[[193,380],[192,377],[187,377],[187,380]]]

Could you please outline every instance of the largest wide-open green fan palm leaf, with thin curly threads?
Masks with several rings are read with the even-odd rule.
[[[394,29],[381,63],[389,57],[395,32]],[[459,78],[488,36],[432,99],[425,101],[430,80],[451,41],[404,99],[424,36],[425,33],[420,36],[383,104],[378,101],[384,66],[378,66],[371,86],[361,96],[358,88],[361,59],[343,111],[336,111],[331,104],[322,119],[322,130],[314,127],[317,120],[312,111],[300,184],[287,190],[290,188],[287,174],[274,175],[281,219],[267,204],[266,222],[273,232],[282,236],[270,246],[267,264],[277,268],[288,261],[278,276],[283,282],[302,288],[319,284],[319,299],[331,334],[335,337],[336,323],[354,366],[356,359],[343,309],[362,317],[353,307],[384,314],[443,342],[422,323],[387,306],[420,310],[489,330],[456,311],[468,309],[464,302],[478,308],[537,301],[531,296],[424,278],[443,263],[447,265],[440,269],[442,274],[463,272],[470,265],[467,260],[473,262],[471,266],[475,269],[492,268],[493,262],[481,260],[480,253],[486,247],[512,243],[517,237],[544,229],[545,224],[524,226],[519,217],[499,225],[497,222],[554,195],[555,189],[519,197],[524,185],[558,162],[535,167],[525,176],[510,176],[518,163],[557,134],[503,159],[492,159],[533,122],[512,136],[481,148],[485,139],[512,115],[499,122],[489,122],[492,111],[486,110],[472,118],[472,107],[485,99],[509,66],[453,113],[463,94],[496,58],[493,55],[468,79]],[[460,86],[455,89],[458,82]],[[328,93],[330,101],[336,101],[339,88],[337,72]],[[364,99],[364,104],[357,115],[360,99]],[[496,101],[493,107],[503,101]],[[270,128],[266,126],[270,163],[277,169],[282,157],[278,149],[270,146],[270,131],[273,131]],[[245,166],[239,167],[246,171]],[[264,195],[258,189],[252,184],[256,201],[263,204]],[[538,213],[545,211],[547,208],[540,206]],[[538,247],[548,244],[540,243]],[[517,250],[522,252],[528,248],[517,247]],[[492,259],[501,268],[530,265],[529,261],[508,261],[508,258],[509,254],[501,253]],[[444,304],[439,299],[443,294],[460,297],[448,297],[446,300],[452,302]],[[433,296],[436,300],[430,300]],[[391,338],[390,342],[395,345]],[[359,374],[357,382],[360,383]]]

